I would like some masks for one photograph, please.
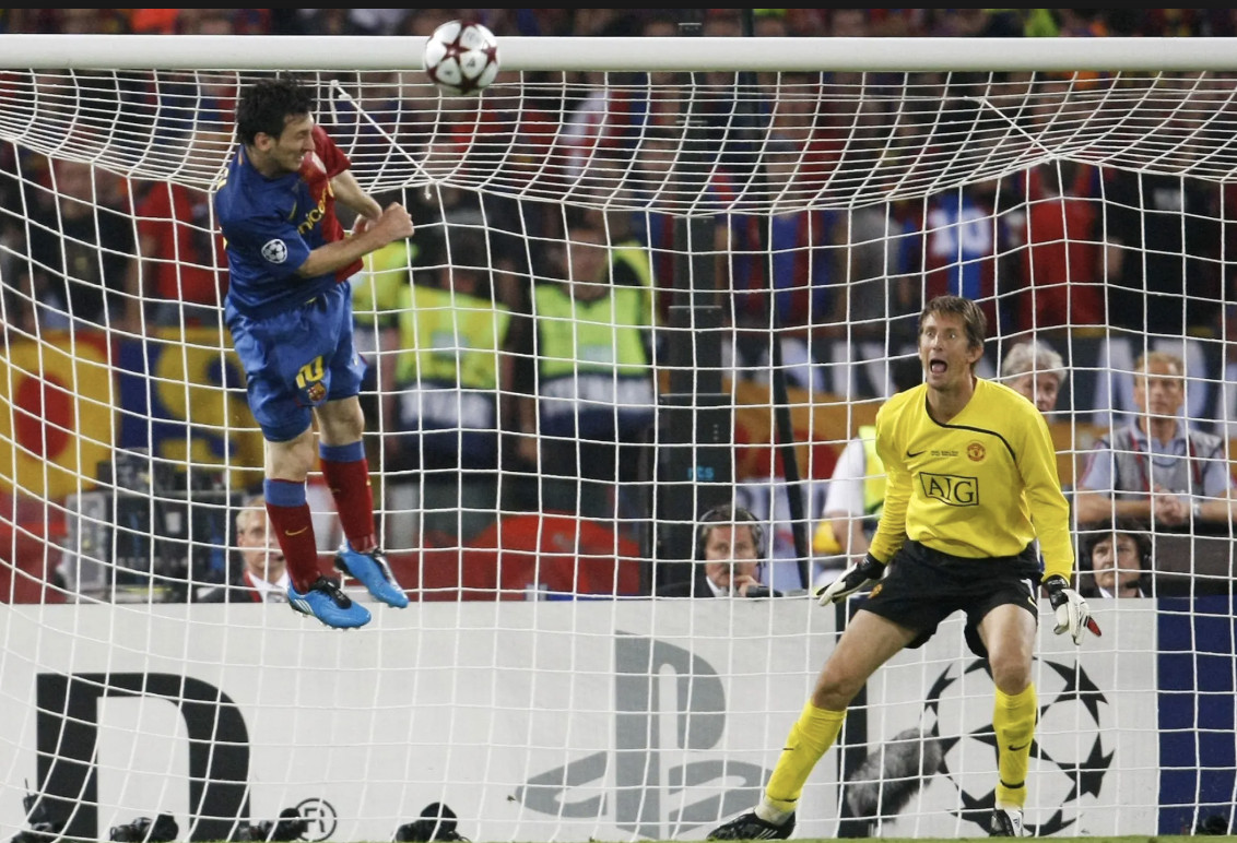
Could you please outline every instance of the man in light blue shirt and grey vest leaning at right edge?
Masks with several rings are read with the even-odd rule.
[[[1185,366],[1176,355],[1150,351],[1134,363],[1138,414],[1102,438],[1077,483],[1080,525],[1113,518],[1155,529],[1227,534],[1235,513],[1226,443],[1190,430],[1181,417]]]

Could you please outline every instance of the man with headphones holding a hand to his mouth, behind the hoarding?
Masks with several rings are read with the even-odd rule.
[[[700,515],[696,528],[696,572],[668,582],[658,597],[779,597],[761,583],[764,528],[750,510],[722,504]]]

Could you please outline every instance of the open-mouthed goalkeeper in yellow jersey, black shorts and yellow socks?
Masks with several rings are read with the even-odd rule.
[[[1069,504],[1044,417],[1006,386],[975,376],[986,320],[970,299],[941,295],[919,315],[925,382],[876,417],[887,496],[867,557],[821,590],[820,604],[875,585],[842,633],[811,698],[790,728],[764,797],[709,839],[782,839],[794,829],[803,785],[841,731],[846,707],[873,671],[938,624],[966,612],[966,642],[996,684],[992,724],[998,780],[990,832],[1022,833],[1035,732],[1032,654],[1043,585],[1058,634],[1100,634],[1070,587]],[[1044,555],[1039,574],[1034,540]]]

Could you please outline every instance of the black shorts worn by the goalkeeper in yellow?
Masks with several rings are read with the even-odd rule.
[[[1017,556],[966,559],[907,541],[858,608],[917,632],[909,648],[923,646],[954,612],[966,612],[966,643],[986,659],[980,622],[996,607],[1013,603],[1030,612],[1038,624],[1039,578],[1034,545]]]

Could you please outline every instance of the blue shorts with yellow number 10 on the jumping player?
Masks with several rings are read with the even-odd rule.
[[[365,361],[353,347],[351,283],[266,319],[230,315],[249,408],[266,439],[296,439],[309,429],[314,407],[360,393]]]

